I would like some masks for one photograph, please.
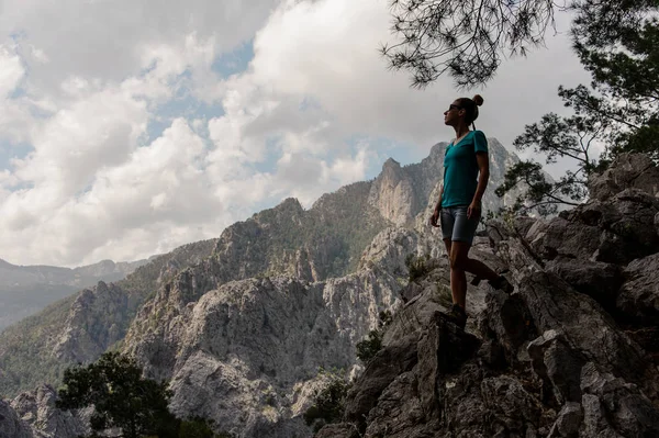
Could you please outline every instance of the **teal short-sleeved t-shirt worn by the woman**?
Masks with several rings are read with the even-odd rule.
[[[470,131],[457,144],[450,144],[444,154],[444,194],[442,206],[469,205],[478,186],[476,153],[488,151],[482,131]]]

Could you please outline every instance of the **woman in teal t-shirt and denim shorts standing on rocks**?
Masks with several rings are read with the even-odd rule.
[[[468,257],[473,235],[481,216],[481,199],[490,178],[488,141],[482,131],[476,131],[473,121],[478,119],[478,106],[483,104],[479,94],[473,99],[460,98],[444,112],[444,123],[456,131],[454,139],[444,156],[444,183],[435,206],[431,224],[442,223],[442,235],[446,254],[450,260],[450,291],[455,323],[465,328],[467,313],[467,276],[487,279],[496,289],[512,291],[507,280],[499,276],[483,262]],[[469,130],[469,125],[473,131]]]

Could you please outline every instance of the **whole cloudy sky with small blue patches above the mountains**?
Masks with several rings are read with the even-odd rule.
[[[390,21],[388,0],[0,0],[0,258],[139,259],[421,160],[462,93],[388,70]],[[474,90],[488,136],[588,80],[567,30]]]

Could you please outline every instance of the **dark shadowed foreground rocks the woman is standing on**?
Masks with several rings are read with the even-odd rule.
[[[490,223],[515,290],[481,284],[480,308],[470,291],[466,332],[437,299],[445,262],[428,260],[354,383],[344,423],[317,436],[659,436],[659,173],[644,167],[638,182],[629,162],[646,161],[622,156],[591,181],[615,191],[603,199],[552,220]]]

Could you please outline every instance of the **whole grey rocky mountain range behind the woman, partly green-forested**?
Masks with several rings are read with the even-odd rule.
[[[512,202],[493,188],[517,158],[495,138],[489,145],[483,211],[495,212]],[[15,397],[21,418],[41,408],[70,426],[60,430],[80,430],[70,422],[81,419],[54,414],[53,388],[67,367],[115,349],[147,377],[170,381],[180,416],[211,418],[241,437],[309,437],[301,414],[327,381],[322,370],[359,373],[356,344],[380,312],[402,305],[405,260],[444,251],[427,220],[446,147],[433,146],[418,164],[389,159],[376,179],[308,210],[287,199],[216,239],[152,258],[123,280],[98,282],[8,327],[0,394]],[[482,302],[481,294],[474,308]],[[42,436],[68,437],[38,427]]]

